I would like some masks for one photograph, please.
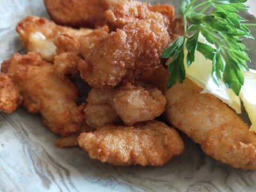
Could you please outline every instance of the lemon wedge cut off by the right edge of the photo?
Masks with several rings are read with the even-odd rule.
[[[256,70],[244,72],[244,86],[239,96],[252,123],[250,131],[256,133]]]

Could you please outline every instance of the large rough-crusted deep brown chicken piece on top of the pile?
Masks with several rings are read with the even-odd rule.
[[[78,63],[78,69],[93,87],[109,89],[121,81],[133,82],[138,74],[160,64],[169,42],[163,23],[139,20],[101,38],[89,59]]]

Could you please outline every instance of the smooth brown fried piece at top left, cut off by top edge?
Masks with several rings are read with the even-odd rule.
[[[44,0],[53,21],[72,27],[98,27],[106,24],[104,12],[122,0]]]

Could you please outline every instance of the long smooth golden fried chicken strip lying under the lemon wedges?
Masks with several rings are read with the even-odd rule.
[[[201,87],[189,79],[167,90],[168,72],[163,68],[143,80],[150,81],[150,76],[163,86],[165,115],[173,126],[199,143],[207,155],[235,168],[256,169],[256,135],[234,110],[214,95],[201,94]]]

